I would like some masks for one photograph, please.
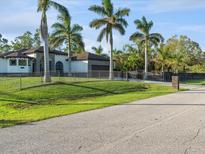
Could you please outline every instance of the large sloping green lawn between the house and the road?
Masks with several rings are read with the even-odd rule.
[[[24,78],[24,90],[9,91],[14,78],[7,85],[0,82],[0,127],[39,121],[52,117],[93,110],[112,105],[175,92],[171,87],[126,81],[56,82],[37,84],[37,78]],[[56,79],[57,80],[57,79]],[[9,84],[11,84],[9,86]],[[13,84],[13,85],[12,85]],[[8,89],[6,89],[8,88]]]

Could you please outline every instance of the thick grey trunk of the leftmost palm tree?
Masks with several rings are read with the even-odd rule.
[[[41,19],[41,38],[44,47],[44,83],[48,83],[51,82],[51,76],[49,68],[48,25],[45,14],[44,17],[42,17]]]

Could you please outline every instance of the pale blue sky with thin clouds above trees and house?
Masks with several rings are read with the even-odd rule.
[[[55,0],[66,6],[72,16],[72,22],[83,26],[83,37],[86,50],[98,46],[96,41],[99,31],[89,28],[89,22],[97,18],[88,11],[92,4],[101,4],[101,0]],[[187,35],[205,49],[205,0],[113,0],[115,7],[130,8],[127,17],[129,26],[125,36],[114,34],[115,48],[121,49],[129,42],[129,36],[136,31],[133,24],[135,19],[146,16],[153,20],[152,32],[159,32],[167,39],[173,35]],[[36,12],[37,0],[0,0],[0,33],[9,40],[25,31],[34,32],[39,27],[40,13]],[[57,12],[48,12],[49,25],[56,21]],[[50,29],[49,32],[52,30]],[[106,51],[109,46],[101,43]]]

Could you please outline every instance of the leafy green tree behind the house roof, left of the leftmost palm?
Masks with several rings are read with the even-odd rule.
[[[18,36],[11,42],[13,50],[29,49],[33,45],[32,33],[27,31],[22,36]]]

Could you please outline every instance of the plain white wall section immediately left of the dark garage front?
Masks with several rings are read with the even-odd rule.
[[[88,61],[72,61],[71,72],[87,73],[88,72]]]

